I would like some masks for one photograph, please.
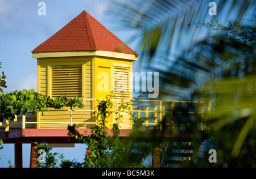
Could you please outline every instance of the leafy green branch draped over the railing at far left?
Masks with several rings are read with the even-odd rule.
[[[0,93],[0,122],[3,121],[3,118],[14,120],[15,115],[20,113],[43,113],[48,108],[63,109],[63,106],[69,106],[71,110],[75,107],[82,108],[82,100],[83,98],[75,97],[72,99],[67,96],[51,99],[42,96],[35,90]]]

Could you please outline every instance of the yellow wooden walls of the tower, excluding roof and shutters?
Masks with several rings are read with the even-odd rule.
[[[106,95],[113,95],[111,92],[99,92],[97,89],[97,83],[101,79],[97,79],[98,73],[101,72],[102,69],[108,69],[109,73],[109,83],[113,90],[113,68],[123,68],[127,69],[129,73],[133,71],[133,62],[129,59],[122,58],[112,58],[112,57],[61,57],[61,58],[38,58],[38,92],[42,93],[44,96],[51,96],[51,66],[61,66],[61,65],[82,65],[82,83],[84,87],[82,88],[82,95],[85,99],[105,99]],[[129,76],[129,85],[132,89],[132,74]],[[110,90],[110,91],[111,91]],[[130,96],[126,99],[132,99],[133,93],[130,91]],[[94,110],[96,106],[95,101],[85,100],[84,110]],[[67,109],[68,108],[64,108]],[[79,108],[75,108],[78,110]],[[60,111],[50,109],[49,112],[44,112],[44,116],[42,113],[38,114],[38,121],[40,122],[70,122],[70,112],[68,111]],[[123,122],[131,122],[130,116],[123,113]],[[96,122],[96,118],[93,116],[93,112],[72,112],[72,122]],[[109,119],[109,122],[113,121],[113,117]],[[120,123],[122,129],[130,129],[130,124]],[[39,124],[38,128],[67,128],[68,124]],[[90,128],[93,127],[93,124],[90,125],[77,125],[79,128]],[[109,125],[111,127],[112,125]]]

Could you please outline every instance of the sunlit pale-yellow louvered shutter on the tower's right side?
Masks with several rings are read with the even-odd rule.
[[[130,99],[129,69],[114,67],[115,99]]]

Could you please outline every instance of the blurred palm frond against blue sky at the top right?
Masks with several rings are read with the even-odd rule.
[[[171,63],[184,50],[193,48],[195,42],[213,33],[189,24],[230,19],[245,21],[255,6],[255,1],[216,1],[217,16],[210,16],[209,2],[113,0],[111,12],[117,15],[120,26],[138,30],[133,39],[139,39],[137,50],[141,54],[141,65],[154,66],[159,59]]]

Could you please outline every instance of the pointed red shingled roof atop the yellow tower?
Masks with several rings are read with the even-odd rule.
[[[138,54],[113,35],[88,12],[82,11],[75,19],[32,52],[69,52],[105,50]]]

